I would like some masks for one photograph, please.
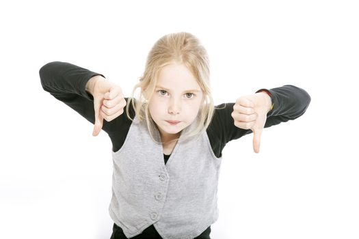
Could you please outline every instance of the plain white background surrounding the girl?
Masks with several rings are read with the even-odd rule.
[[[188,31],[211,60],[215,104],[291,84],[294,121],[223,151],[211,238],[359,238],[356,1],[1,1],[0,238],[109,238],[111,141],[44,92],[67,61],[129,96],[161,36]]]

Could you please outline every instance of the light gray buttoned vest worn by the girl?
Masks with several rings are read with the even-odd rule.
[[[154,137],[161,141],[157,129]],[[205,130],[198,137],[180,137],[165,164],[161,143],[153,141],[146,122],[135,117],[124,144],[112,156],[109,214],[127,238],[153,224],[164,239],[191,239],[217,221],[222,157],[213,153]]]

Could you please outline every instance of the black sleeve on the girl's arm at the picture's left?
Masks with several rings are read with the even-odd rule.
[[[62,61],[53,61],[45,64],[40,68],[39,74],[42,88],[46,92],[49,92],[57,100],[64,102],[94,124],[94,98],[90,93],[85,91],[85,85],[92,76],[103,76],[103,74],[98,74]],[[105,76],[103,77],[105,78]],[[126,101],[127,99],[125,98]],[[118,139],[114,138],[115,135],[117,134],[118,137],[120,134],[119,130],[124,130],[127,134],[129,124],[131,124],[129,121],[126,116],[126,108],[124,113],[116,119],[110,122],[107,122],[105,119],[103,120],[103,130],[111,138],[114,149],[118,148],[120,144]]]

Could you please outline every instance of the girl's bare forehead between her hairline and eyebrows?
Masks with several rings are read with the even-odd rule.
[[[196,77],[183,64],[170,64],[162,68],[157,86],[172,90],[198,89]]]

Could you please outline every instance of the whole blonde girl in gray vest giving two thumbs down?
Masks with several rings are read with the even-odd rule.
[[[103,74],[66,62],[42,66],[40,79],[94,124],[94,136],[102,129],[111,139],[111,239],[210,238],[226,143],[254,132],[259,152],[263,128],[300,117],[310,102],[284,85],[214,107],[207,52],[190,33],[155,43],[130,98]]]

